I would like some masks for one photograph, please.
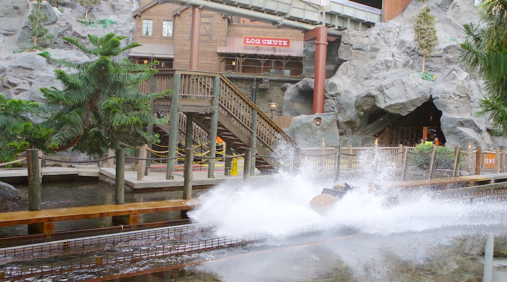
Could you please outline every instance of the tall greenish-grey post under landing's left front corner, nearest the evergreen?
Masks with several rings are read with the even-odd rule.
[[[169,118],[169,140],[167,144],[167,157],[174,158],[176,156],[176,144],[178,142],[178,125],[179,125],[179,92],[180,84],[182,82],[182,75],[175,73],[172,82],[172,98],[171,98],[171,114]],[[167,160],[167,170],[165,179],[174,179],[174,164],[175,159]]]

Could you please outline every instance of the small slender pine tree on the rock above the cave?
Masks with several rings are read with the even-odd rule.
[[[431,14],[426,4],[422,5],[415,17],[414,43],[419,49],[419,54],[422,55],[421,74],[424,74],[426,57],[431,56],[431,53],[439,44],[439,37],[435,28],[435,16]]]

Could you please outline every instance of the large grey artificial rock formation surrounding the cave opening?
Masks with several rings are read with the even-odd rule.
[[[468,143],[483,149],[504,146],[505,138],[492,138],[488,133],[488,120],[475,116],[477,102],[485,94],[481,80],[467,73],[456,58],[459,43],[464,40],[462,25],[479,21],[473,2],[430,0],[426,4],[436,15],[440,40],[438,49],[425,64],[425,70],[436,75],[435,81],[423,80],[416,73],[421,70],[422,56],[413,42],[412,27],[422,4],[415,1],[392,21],[377,23],[368,31],[344,31],[338,54],[328,53],[328,57],[338,56],[344,61],[326,81],[324,101],[324,112],[336,114],[340,146],[361,146],[371,140],[364,129],[372,113],[383,110],[406,116],[430,99],[442,111],[441,130],[447,146],[465,147]],[[304,80],[285,85],[283,115],[307,115],[307,123],[311,124],[314,119],[311,105],[302,108],[285,104],[285,101],[307,102],[312,97],[311,86],[311,81]],[[289,131],[300,124],[298,121],[291,125]],[[315,135],[320,128],[308,130],[309,135]]]

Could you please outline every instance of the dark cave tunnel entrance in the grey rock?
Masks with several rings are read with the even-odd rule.
[[[377,137],[382,147],[400,144],[412,147],[420,144],[422,139],[434,142],[436,137],[440,145],[444,145],[446,140],[440,126],[441,117],[442,111],[430,99],[406,116],[378,110],[368,118],[368,132]]]

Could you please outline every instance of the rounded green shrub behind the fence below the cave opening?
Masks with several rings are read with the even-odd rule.
[[[428,169],[431,161],[431,144],[419,144],[414,151],[409,154],[409,165],[417,166],[422,169]],[[454,150],[449,147],[435,146],[435,159],[433,169],[444,168],[451,169],[454,165]]]

